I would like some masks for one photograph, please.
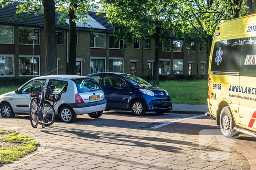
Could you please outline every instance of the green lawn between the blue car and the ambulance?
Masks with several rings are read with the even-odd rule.
[[[207,104],[208,81],[166,81],[159,84],[158,87],[166,90],[175,104]]]

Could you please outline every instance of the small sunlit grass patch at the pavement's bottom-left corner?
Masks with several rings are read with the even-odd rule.
[[[38,143],[28,135],[0,130],[0,162],[8,163],[37,149]]]

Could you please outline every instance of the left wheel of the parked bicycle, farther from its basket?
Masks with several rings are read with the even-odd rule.
[[[33,98],[30,100],[29,103],[29,119],[32,127],[37,128],[38,125],[38,117],[37,117],[37,111],[38,111],[38,101],[36,98]]]

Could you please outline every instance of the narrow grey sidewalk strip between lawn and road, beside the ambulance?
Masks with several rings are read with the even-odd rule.
[[[195,104],[173,104],[173,109],[169,113],[182,113],[182,114],[204,114],[209,112],[208,105],[195,105]]]

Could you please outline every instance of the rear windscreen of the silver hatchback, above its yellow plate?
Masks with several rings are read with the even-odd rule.
[[[74,80],[78,93],[101,90],[99,84],[91,78]]]

